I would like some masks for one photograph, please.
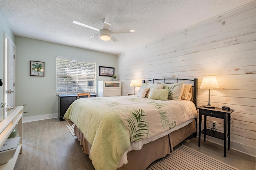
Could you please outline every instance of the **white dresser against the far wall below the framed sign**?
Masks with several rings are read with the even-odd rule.
[[[98,97],[121,96],[120,81],[98,81]]]

